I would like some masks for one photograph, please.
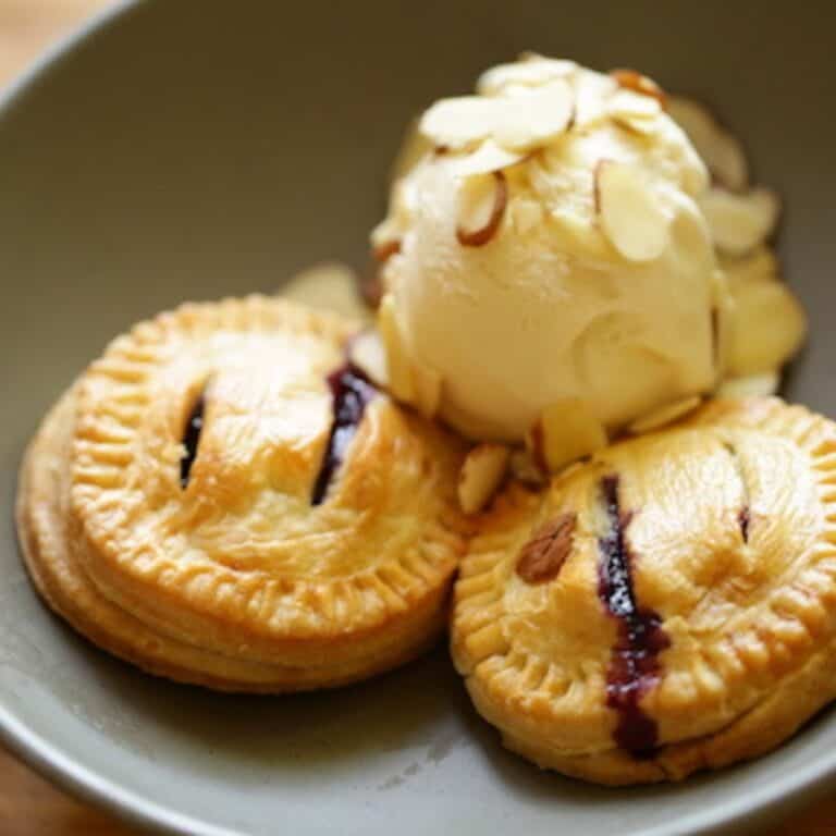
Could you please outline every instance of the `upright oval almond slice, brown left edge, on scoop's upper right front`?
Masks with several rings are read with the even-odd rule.
[[[664,253],[668,218],[636,169],[612,160],[599,162],[595,207],[604,234],[626,259],[652,261]]]

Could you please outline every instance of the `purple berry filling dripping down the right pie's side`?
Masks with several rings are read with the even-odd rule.
[[[607,534],[598,541],[598,592],[618,625],[606,672],[606,704],[618,713],[615,742],[636,758],[648,758],[653,755],[659,735],[656,722],[644,714],[639,702],[659,681],[659,654],[671,641],[660,616],[636,602],[632,555],[625,538],[630,515],[623,514],[619,507],[618,477],[605,477],[601,493],[610,526]]]

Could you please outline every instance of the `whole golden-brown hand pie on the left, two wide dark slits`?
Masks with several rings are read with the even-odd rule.
[[[50,605],[153,673],[336,686],[441,632],[456,440],[345,365],[356,324],[251,297],[118,339],[46,419],[19,525]]]

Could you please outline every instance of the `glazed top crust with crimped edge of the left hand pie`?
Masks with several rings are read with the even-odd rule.
[[[357,330],[251,297],[110,346],[81,383],[72,475],[107,593],[302,637],[373,625],[452,570],[458,444],[345,365]]]

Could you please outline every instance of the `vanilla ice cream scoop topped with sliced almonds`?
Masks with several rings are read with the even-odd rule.
[[[571,413],[605,441],[713,390],[708,173],[661,99],[636,74],[531,58],[423,114],[430,149],[373,233],[396,394],[477,439]]]

